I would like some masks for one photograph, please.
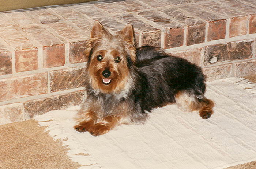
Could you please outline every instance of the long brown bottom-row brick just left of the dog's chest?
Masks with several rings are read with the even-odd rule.
[[[80,105],[84,97],[84,90],[56,95],[53,97],[30,100],[24,103],[25,114],[29,118],[42,115],[51,110],[63,110],[70,106]]]

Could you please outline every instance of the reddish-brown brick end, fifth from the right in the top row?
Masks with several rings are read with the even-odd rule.
[[[183,45],[184,27],[171,28],[169,32],[165,32],[164,48],[174,48]]]

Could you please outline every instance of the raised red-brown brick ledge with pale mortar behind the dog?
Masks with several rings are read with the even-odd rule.
[[[79,105],[91,24],[130,23],[137,46],[202,66],[207,80],[256,73],[252,0],[129,0],[0,14],[0,124]]]

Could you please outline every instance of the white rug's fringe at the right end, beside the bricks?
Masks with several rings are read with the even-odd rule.
[[[236,84],[236,85],[242,87],[242,89],[244,89],[246,91],[256,94],[256,83],[253,83],[253,82],[249,81],[248,79],[230,77],[230,78],[226,78],[226,79],[221,79],[221,81],[231,82],[233,84]]]

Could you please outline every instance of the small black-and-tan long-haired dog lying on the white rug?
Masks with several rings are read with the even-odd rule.
[[[102,135],[121,124],[143,123],[152,109],[172,103],[199,110],[203,119],[213,113],[202,69],[160,48],[137,49],[131,24],[112,35],[95,21],[84,57],[87,98],[76,131]]]

